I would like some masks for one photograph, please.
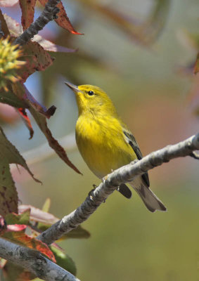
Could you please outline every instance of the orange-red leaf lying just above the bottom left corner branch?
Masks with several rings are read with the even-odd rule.
[[[20,244],[23,247],[28,247],[40,251],[42,254],[48,256],[49,259],[51,259],[54,263],[56,263],[56,259],[52,251],[45,243],[41,242],[40,240],[32,238],[21,231],[18,232],[2,231],[0,235],[1,238],[4,238],[16,244]]]

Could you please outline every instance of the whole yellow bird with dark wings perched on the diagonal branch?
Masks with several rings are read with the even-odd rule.
[[[97,86],[66,85],[75,92],[79,118],[76,124],[76,141],[79,152],[89,169],[103,178],[111,171],[141,159],[141,151],[132,133],[117,115],[108,95]],[[166,207],[149,188],[148,173],[138,176],[130,185],[140,195],[149,211],[166,211]],[[118,191],[127,198],[131,191],[120,185]]]

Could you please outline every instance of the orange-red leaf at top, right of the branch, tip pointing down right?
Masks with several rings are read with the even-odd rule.
[[[45,6],[46,3],[48,2],[48,0],[39,0],[39,2],[41,3],[42,6]],[[61,1],[58,3],[57,7],[60,9],[59,13],[57,14],[58,18],[56,19],[57,24],[60,27],[63,27],[65,30],[68,30],[72,34],[83,34],[83,33],[77,32],[74,29],[67,14],[65,13],[65,8]]]

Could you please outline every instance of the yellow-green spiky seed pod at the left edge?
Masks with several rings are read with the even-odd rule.
[[[8,81],[16,82],[20,79],[17,74],[18,68],[25,62],[18,60],[22,51],[18,45],[12,45],[10,37],[0,39],[0,90],[8,91]]]

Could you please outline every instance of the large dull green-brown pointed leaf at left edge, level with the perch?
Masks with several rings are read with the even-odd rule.
[[[11,176],[9,164],[15,163],[23,166],[34,178],[25,159],[20,155],[14,145],[6,138],[0,127],[0,214],[18,213],[18,193]],[[34,178],[35,181],[38,181]]]

